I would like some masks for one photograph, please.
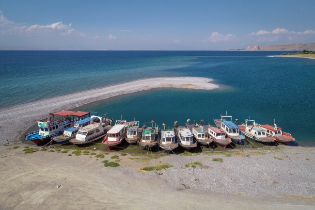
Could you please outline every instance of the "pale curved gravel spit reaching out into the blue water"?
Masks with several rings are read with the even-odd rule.
[[[202,90],[219,88],[218,85],[209,83],[210,81],[212,79],[200,77],[149,78],[0,109],[0,144],[3,144],[7,139],[9,141],[16,140],[36,120],[47,117],[48,113],[68,110],[93,101],[152,88]]]

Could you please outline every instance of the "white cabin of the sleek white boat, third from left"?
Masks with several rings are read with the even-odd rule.
[[[94,118],[98,118],[99,122],[94,122]],[[99,116],[91,116],[90,125],[87,125],[85,127],[82,127],[79,129],[76,139],[79,141],[89,141],[91,139],[94,139],[95,137],[101,135],[104,133],[104,129],[102,127],[103,118]]]

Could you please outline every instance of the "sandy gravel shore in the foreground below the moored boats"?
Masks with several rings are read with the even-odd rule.
[[[314,147],[96,158],[23,146],[0,146],[0,209],[314,209]]]

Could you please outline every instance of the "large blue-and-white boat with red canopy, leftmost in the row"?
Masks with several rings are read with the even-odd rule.
[[[67,111],[49,113],[47,120],[37,121],[39,130],[25,135],[25,140],[35,144],[42,144],[51,141],[51,138],[63,133],[65,129],[74,126],[75,121],[89,117],[90,113],[81,111]]]

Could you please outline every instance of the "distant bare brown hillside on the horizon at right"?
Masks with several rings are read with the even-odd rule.
[[[283,44],[283,45],[254,45],[248,46],[245,50],[260,50],[260,51],[272,51],[272,50],[286,50],[286,51],[301,51],[301,50],[315,50],[315,43],[307,44]]]

